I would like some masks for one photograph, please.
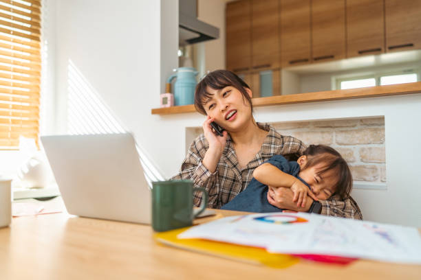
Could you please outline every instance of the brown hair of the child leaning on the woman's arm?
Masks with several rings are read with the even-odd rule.
[[[310,145],[305,149],[303,155],[307,156],[307,163],[303,170],[319,163],[325,163],[319,174],[323,174],[327,170],[336,170],[337,182],[334,194],[340,196],[341,199],[349,196],[352,191],[352,174],[341,154],[327,145]]]

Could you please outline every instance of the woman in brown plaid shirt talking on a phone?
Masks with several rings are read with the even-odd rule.
[[[209,194],[208,207],[220,208],[243,191],[255,168],[275,154],[287,159],[301,155],[305,145],[299,139],[280,135],[269,124],[259,124],[252,115],[252,91],[235,73],[217,70],[208,73],[196,86],[195,108],[206,115],[204,134],[193,141],[182,163],[180,173],[172,179],[191,179]],[[225,129],[215,134],[210,123]],[[297,207],[288,188],[269,188],[271,198],[283,209],[308,211],[313,200],[307,197],[305,207]],[[194,196],[195,205],[202,197]],[[321,212],[345,218],[362,219],[360,209],[351,198],[332,196],[322,200]]]

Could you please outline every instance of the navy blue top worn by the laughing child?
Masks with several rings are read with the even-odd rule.
[[[310,186],[301,179],[298,174],[300,172],[300,166],[296,161],[287,161],[280,154],[272,156],[268,161],[264,163],[270,163],[279,168],[279,170],[290,174],[303,182],[307,187]],[[268,186],[263,185],[255,178],[252,178],[246,189],[241,191],[233,200],[228,202],[226,205],[221,207],[224,210],[234,211],[248,211],[248,212],[281,212],[282,209],[270,205],[268,202]]]

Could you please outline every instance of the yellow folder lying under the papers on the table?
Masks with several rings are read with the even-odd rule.
[[[198,253],[215,255],[226,259],[245,261],[250,264],[263,264],[272,268],[287,268],[299,261],[298,257],[268,253],[264,248],[241,246],[224,242],[200,239],[178,239],[177,235],[189,228],[155,233],[155,240],[162,244],[191,250]]]

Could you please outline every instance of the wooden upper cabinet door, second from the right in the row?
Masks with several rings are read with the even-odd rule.
[[[383,0],[347,0],[347,57],[385,52]]]

